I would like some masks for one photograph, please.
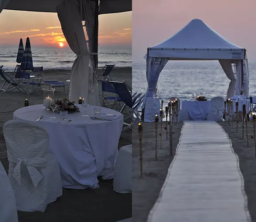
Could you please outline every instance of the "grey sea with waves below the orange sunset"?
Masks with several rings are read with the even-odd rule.
[[[17,48],[0,47],[0,66],[12,71],[16,67]],[[76,55],[70,48],[32,48],[34,66],[48,69],[71,69]],[[132,67],[132,49],[99,48],[99,67],[116,64],[116,67]]]

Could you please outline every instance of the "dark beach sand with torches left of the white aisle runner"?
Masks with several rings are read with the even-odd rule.
[[[155,160],[155,123],[142,123],[143,126],[143,178],[140,177],[140,145],[137,127],[132,129],[132,221],[146,222],[148,214],[154,206],[161,187],[164,184],[168,168],[175,155],[180,139],[183,123],[174,127],[173,155],[170,155],[169,140],[163,123],[162,149],[160,150],[160,136],[158,135],[157,160]],[[169,127],[168,127],[169,128]],[[160,133],[160,123],[158,127]]]

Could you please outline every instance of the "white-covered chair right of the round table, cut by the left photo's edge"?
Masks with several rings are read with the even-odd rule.
[[[117,193],[132,193],[132,144],[121,147],[115,164],[113,190]]]

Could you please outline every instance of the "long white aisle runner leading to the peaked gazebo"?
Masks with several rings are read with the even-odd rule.
[[[186,121],[148,222],[248,222],[244,179],[231,141],[215,122]]]

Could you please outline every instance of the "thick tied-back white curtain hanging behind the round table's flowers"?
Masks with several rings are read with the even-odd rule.
[[[64,0],[56,11],[69,47],[76,54],[71,69],[69,99],[78,103],[79,97],[88,101],[89,52],[76,1]]]

